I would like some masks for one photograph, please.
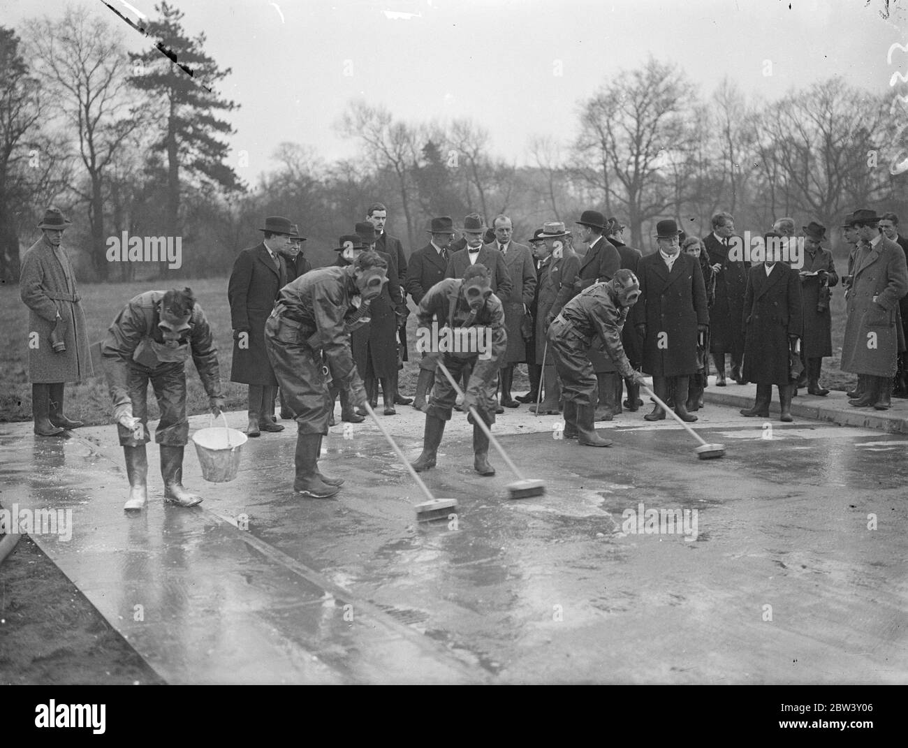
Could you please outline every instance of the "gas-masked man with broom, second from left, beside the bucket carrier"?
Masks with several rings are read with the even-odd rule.
[[[296,479],[293,490],[326,498],[341,490],[343,478],[328,477],[318,466],[321,439],[328,433],[335,387],[361,407],[366,390],[350,349],[350,331],[388,282],[388,262],[377,252],[353,249],[358,237],[341,237],[351,262],[307,272],[281,289],[265,324],[265,349],[287,405],[296,414]],[[355,252],[355,256],[354,256]],[[322,363],[324,357],[325,363]]]

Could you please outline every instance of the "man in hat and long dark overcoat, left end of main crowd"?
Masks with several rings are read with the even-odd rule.
[[[265,219],[262,242],[240,252],[233,262],[227,296],[233,328],[231,381],[249,385],[250,437],[262,431],[283,431],[274,422],[274,396],[278,380],[265,352],[265,321],[274,301],[287,284],[281,250],[290,243],[293,224],[281,216]]]

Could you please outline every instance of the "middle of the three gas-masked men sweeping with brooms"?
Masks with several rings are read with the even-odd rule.
[[[433,318],[437,320],[434,327]],[[456,345],[437,346],[444,352],[433,349],[430,355],[445,365],[455,381],[460,379],[464,369],[471,368],[463,407],[465,410],[471,406],[476,408],[479,418],[491,426],[495,423],[499,361],[508,349],[508,332],[504,307],[492,293],[489,270],[477,262],[464,271],[462,280],[446,278],[436,283],[419,302],[417,320],[418,335],[421,330],[438,330],[439,342],[443,338],[457,341]],[[432,337],[434,339],[435,335]],[[422,454],[413,463],[417,472],[435,467],[445,422],[450,420],[456,400],[457,393],[439,368],[426,408]],[[468,419],[472,423],[472,416]],[[473,456],[473,467],[479,475],[495,475],[495,468],[489,465],[489,437],[476,423],[473,423]]]

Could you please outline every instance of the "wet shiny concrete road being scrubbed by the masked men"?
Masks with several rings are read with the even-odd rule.
[[[595,449],[524,409],[495,430],[548,494],[508,500],[494,454],[479,477],[459,416],[424,474],[456,523],[414,521],[422,497],[368,423],[332,429],[321,467],[347,483],[331,500],[291,494],[291,429],[251,440],[229,484],[187,449],[192,510],[161,505],[150,449],[139,518],[113,427],[54,445],[6,425],[0,503],[74,509],[71,540],[36,542],[172,683],[908,682],[908,438],[770,434],[709,406],[696,428],[727,455],[700,461],[643,411]],[[383,422],[415,457],[422,418],[400,412]],[[688,524],[646,532],[654,509]]]

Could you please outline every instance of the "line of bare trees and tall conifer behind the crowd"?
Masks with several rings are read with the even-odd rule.
[[[908,153],[906,113],[893,99],[908,86],[878,95],[830,78],[765,103],[728,80],[702,94],[652,58],[579,102],[578,116],[553,113],[558,139],[527,143],[528,165],[497,156],[471,120],[406,123],[354,101],[336,127],[358,157],[324,162],[310,146],[282,143],[250,183],[246,155],[223,141],[239,104],[216,84],[231,71],[204,54],[203,34],[184,32],[181,13],[155,10],[149,38],[192,77],[151,45],[125,53],[121,30],[86,7],[29,21],[21,35],[0,26],[0,280],[17,280],[19,252],[51,203],[75,221],[67,245],[81,252],[85,281],[166,272],[108,262],[106,240],[123,231],[183,237],[184,277],[225,274],[271,214],[299,221],[307,254],[324,264],[377,200],[408,250],[426,241],[431,216],[459,222],[468,212],[508,213],[520,240],[595,207],[625,222],[644,251],[657,220],[702,235],[717,210],[751,231],[781,216],[832,229],[860,206],[908,221],[908,176],[891,168]]]

